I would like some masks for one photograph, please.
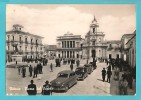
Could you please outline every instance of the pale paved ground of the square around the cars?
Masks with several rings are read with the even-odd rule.
[[[50,63],[53,63],[53,72],[50,72]],[[81,65],[85,64],[85,60],[80,61]],[[30,63],[29,63],[30,65]],[[6,68],[6,93],[7,95],[27,95],[26,87],[33,79],[37,86],[37,93],[41,95],[41,89],[46,80],[52,81],[56,78],[57,73],[62,70],[70,70],[70,65],[61,65],[55,67],[55,61],[49,60],[48,65],[43,67],[43,74],[38,78],[29,77],[28,68],[26,70],[26,77],[18,75],[18,69]],[[53,92],[52,95],[110,95],[110,83],[103,82],[101,77],[101,70],[107,67],[105,63],[97,63],[95,69],[84,81],[78,81],[76,85],[71,87],[67,92]],[[74,64],[74,70],[76,64]]]

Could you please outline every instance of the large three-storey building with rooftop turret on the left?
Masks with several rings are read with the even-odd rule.
[[[43,37],[23,31],[23,26],[13,25],[6,32],[6,58],[12,60],[12,55],[22,55],[23,58],[39,58],[44,52]]]

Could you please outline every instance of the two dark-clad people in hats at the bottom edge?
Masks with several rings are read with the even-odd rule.
[[[42,95],[52,95],[53,88],[49,84],[49,81],[46,81],[45,84],[42,86]],[[34,81],[31,80],[30,84],[27,87],[27,94],[28,95],[37,95],[37,87],[36,84],[34,84]]]

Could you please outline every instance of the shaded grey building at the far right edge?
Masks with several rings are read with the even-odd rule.
[[[127,61],[131,67],[136,66],[136,31],[134,31],[133,36],[126,43],[128,52],[127,52]]]

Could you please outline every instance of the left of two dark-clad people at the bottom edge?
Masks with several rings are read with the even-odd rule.
[[[36,95],[37,94],[36,85],[33,83],[34,83],[34,81],[31,80],[30,84],[28,85],[28,88],[27,88],[28,95]]]

